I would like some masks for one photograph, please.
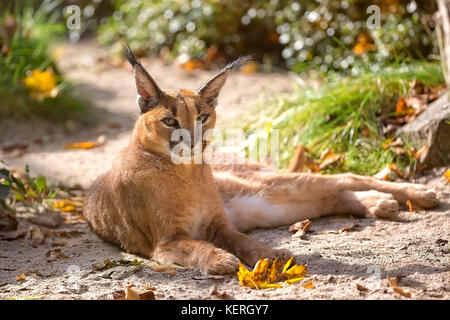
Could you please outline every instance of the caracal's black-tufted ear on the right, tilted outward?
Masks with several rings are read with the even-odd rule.
[[[227,80],[228,74],[234,68],[240,67],[246,62],[252,60],[250,56],[240,57],[239,59],[229,63],[225,68],[220,70],[214,77],[209,79],[204,85],[197,89],[195,92],[201,98],[203,98],[206,103],[211,107],[215,108],[217,106],[217,99],[219,97],[220,90],[222,89],[225,81]]]

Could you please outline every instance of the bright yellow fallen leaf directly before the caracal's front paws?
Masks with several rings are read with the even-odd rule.
[[[284,265],[283,261],[275,259],[271,262],[268,259],[260,259],[253,271],[247,270],[241,263],[239,263],[238,278],[242,286],[266,289],[266,288],[281,288],[284,281],[287,284],[292,284],[303,280],[307,273],[306,266],[293,265],[290,267],[292,258]]]

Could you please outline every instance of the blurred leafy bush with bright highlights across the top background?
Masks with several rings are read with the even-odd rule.
[[[228,58],[257,54],[265,63],[295,71],[352,71],[355,64],[429,58],[437,54],[430,31],[434,5],[409,0],[119,0],[99,29],[105,44],[126,40],[141,54],[169,51],[205,58],[216,46]],[[418,4],[417,4],[418,3]],[[370,29],[370,5],[381,10],[381,27]],[[361,44],[365,35],[368,43]],[[353,52],[356,45],[364,50]],[[373,68],[380,68],[379,65]]]

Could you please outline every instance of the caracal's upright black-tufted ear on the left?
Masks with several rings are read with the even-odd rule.
[[[164,93],[126,44],[123,45],[123,55],[134,69],[134,79],[138,94],[137,104],[141,113],[145,113],[159,104]]]

